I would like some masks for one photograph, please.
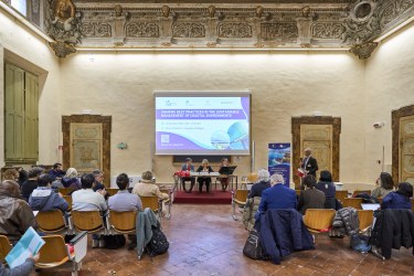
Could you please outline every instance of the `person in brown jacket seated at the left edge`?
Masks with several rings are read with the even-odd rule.
[[[17,243],[30,227],[38,227],[36,221],[28,202],[20,198],[19,184],[6,180],[0,184],[0,235]]]

